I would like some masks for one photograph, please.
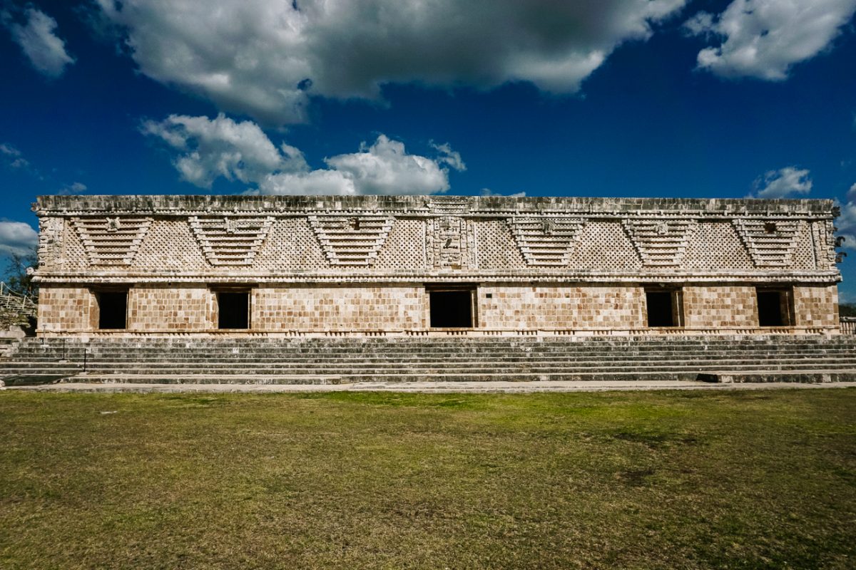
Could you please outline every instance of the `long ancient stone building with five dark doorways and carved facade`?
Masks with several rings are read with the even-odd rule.
[[[838,331],[833,204],[39,197],[39,334]]]

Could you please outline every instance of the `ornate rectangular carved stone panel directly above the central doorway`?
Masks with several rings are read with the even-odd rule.
[[[428,267],[461,269],[476,267],[473,222],[459,216],[428,220],[425,233]]]

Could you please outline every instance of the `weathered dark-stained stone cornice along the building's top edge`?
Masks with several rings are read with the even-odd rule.
[[[831,200],[722,198],[469,197],[469,196],[40,196],[40,216],[265,214],[391,214],[503,217],[574,214],[591,217],[826,218]]]

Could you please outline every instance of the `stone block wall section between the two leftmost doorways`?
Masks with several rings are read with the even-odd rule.
[[[128,330],[187,332],[215,328],[214,293],[205,287],[163,285],[128,291]]]

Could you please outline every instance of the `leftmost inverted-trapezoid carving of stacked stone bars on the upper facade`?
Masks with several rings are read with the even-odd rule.
[[[72,218],[91,265],[130,265],[152,218]]]

